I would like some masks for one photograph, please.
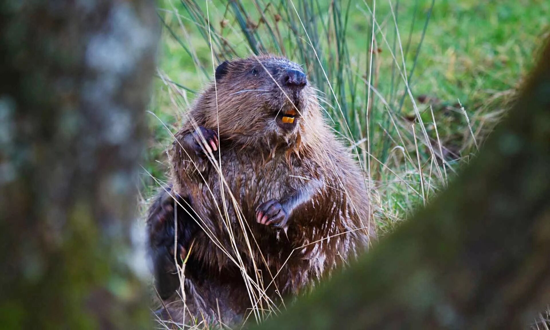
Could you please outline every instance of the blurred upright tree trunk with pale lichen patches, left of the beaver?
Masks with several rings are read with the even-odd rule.
[[[134,329],[152,1],[0,3],[0,324]]]

